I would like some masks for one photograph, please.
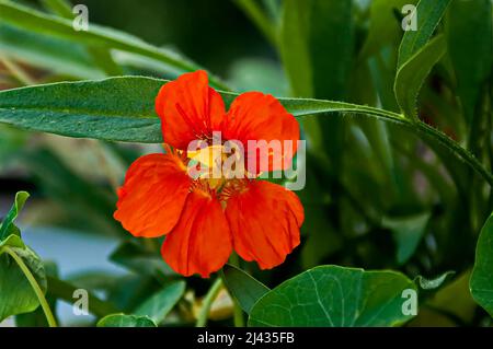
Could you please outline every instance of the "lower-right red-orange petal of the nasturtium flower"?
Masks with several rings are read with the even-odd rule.
[[[226,218],[234,251],[243,259],[270,269],[282,264],[299,245],[305,214],[293,191],[266,181],[253,181],[230,196]]]

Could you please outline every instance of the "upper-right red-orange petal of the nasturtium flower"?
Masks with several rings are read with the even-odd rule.
[[[299,125],[295,117],[274,96],[261,92],[239,95],[222,123],[222,138],[240,140],[246,151],[248,164],[256,161],[255,168],[250,168],[252,173],[288,168],[298,149],[299,136]],[[263,140],[266,143],[260,143],[257,151],[249,147],[249,140]],[[278,141],[280,147],[273,148],[272,153],[267,154],[271,141]],[[268,168],[260,168],[261,158],[265,159]],[[276,162],[275,159],[279,161]]]

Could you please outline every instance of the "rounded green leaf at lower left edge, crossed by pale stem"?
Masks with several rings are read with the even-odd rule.
[[[4,252],[4,247],[5,245],[0,247],[0,322],[11,315],[33,312],[39,305],[25,275],[15,260]],[[39,257],[28,247],[9,246],[9,248],[22,258],[42,291],[46,292],[46,275]]]

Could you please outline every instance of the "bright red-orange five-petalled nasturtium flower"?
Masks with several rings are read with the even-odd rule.
[[[115,219],[135,236],[165,235],[162,257],[184,276],[208,277],[233,249],[262,269],[282,264],[300,242],[303,208],[298,197],[252,176],[194,178],[188,173],[187,148],[196,140],[211,144],[213,132],[220,131],[225,141],[244,144],[291,140],[291,149],[283,147],[274,155],[293,160],[299,140],[295,117],[275,97],[260,92],[241,94],[226,112],[205,71],[185,73],[163,85],[156,110],[168,151],[131,164],[118,189]],[[259,150],[245,152],[245,162],[259,156]],[[282,168],[275,168],[271,160],[270,171],[290,165],[283,162]]]

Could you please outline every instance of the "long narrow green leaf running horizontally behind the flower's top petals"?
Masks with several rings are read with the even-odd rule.
[[[0,123],[68,137],[161,143],[154,98],[165,80],[119,77],[0,92]],[[226,102],[237,94],[222,93]],[[295,116],[353,112],[403,121],[393,113],[348,103],[280,98]],[[376,113],[377,110],[377,113]]]

